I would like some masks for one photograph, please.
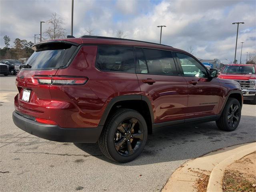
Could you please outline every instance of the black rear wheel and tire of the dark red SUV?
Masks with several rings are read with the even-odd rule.
[[[128,127],[126,127],[127,124],[129,125]],[[121,129],[122,132],[120,131]],[[133,130],[132,132],[134,133],[129,132],[129,130]],[[140,138],[136,138],[138,135],[140,135]],[[140,155],[146,144],[147,137],[147,124],[139,112],[131,109],[118,109],[105,124],[98,143],[100,150],[106,157],[116,162],[124,163],[132,161]],[[130,148],[132,146],[134,148]],[[125,151],[126,149],[127,151]]]

